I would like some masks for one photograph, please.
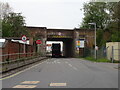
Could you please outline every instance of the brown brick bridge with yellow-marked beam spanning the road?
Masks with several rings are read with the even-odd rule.
[[[43,54],[46,52],[47,41],[62,41],[63,55],[65,57],[76,57],[78,54],[82,56],[84,48],[94,47],[93,29],[47,29],[46,27],[27,27],[27,29],[32,36],[30,44],[33,45],[34,40],[42,40],[40,49]],[[78,40],[84,41],[84,47],[79,50],[76,48],[76,41]]]

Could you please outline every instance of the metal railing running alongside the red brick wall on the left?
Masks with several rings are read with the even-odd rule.
[[[4,54],[0,55],[0,58],[4,59],[0,62],[0,73],[2,73],[30,63],[34,63],[44,57],[40,53],[33,52]]]

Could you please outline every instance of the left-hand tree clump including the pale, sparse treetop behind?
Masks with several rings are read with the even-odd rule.
[[[14,13],[8,3],[0,2],[0,19],[2,21],[2,37],[21,37],[29,35],[25,20],[21,13]]]

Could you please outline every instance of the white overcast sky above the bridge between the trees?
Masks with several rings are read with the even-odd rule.
[[[89,0],[2,0],[16,13],[22,13],[27,26],[47,28],[79,27],[83,3]]]

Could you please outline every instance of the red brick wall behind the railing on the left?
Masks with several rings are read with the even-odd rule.
[[[2,58],[0,56],[0,61],[15,60],[18,58],[32,56],[33,54],[28,54],[28,53],[33,53],[34,51],[33,45],[25,44],[25,47],[26,47],[25,50],[26,52],[24,54],[24,44],[7,40],[3,45],[3,47],[0,48],[0,52],[2,52],[2,55],[6,55],[6,54],[14,54],[14,55],[2,56]],[[21,54],[16,54],[16,53],[21,53]]]

